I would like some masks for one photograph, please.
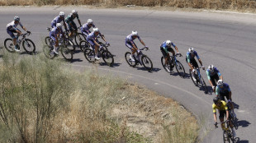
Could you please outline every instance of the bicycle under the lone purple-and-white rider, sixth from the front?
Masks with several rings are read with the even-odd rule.
[[[145,48],[140,48],[140,53],[137,53],[137,56],[134,56],[135,61],[132,61],[130,59],[130,52],[126,52],[125,57],[126,57],[126,62],[130,65],[130,67],[135,67],[137,65],[143,65],[145,67],[146,70],[148,71],[152,71],[153,69],[153,63],[151,62],[150,58],[145,55],[144,53],[142,53],[141,51],[143,50],[149,50],[149,48],[145,47]]]

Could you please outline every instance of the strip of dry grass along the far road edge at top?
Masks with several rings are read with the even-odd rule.
[[[92,5],[104,7],[120,7],[136,5],[142,7],[178,7],[178,8],[206,8],[231,9],[237,11],[254,11],[254,0],[0,0],[0,6],[13,5]]]

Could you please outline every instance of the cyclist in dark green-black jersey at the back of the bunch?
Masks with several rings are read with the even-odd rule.
[[[79,23],[79,25],[81,27],[82,26],[81,25],[81,21],[79,20],[78,12],[76,10],[73,10],[72,13],[69,13],[69,16],[67,16],[65,18],[65,22],[67,23],[67,25],[69,25],[69,30],[70,30],[69,37],[73,36],[73,32],[77,32],[78,31],[77,25],[73,22],[73,20],[75,18],[78,18],[78,23]]]

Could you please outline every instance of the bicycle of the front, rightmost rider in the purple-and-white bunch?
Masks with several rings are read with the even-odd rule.
[[[114,63],[113,55],[107,50],[107,47],[110,46],[110,44],[103,44],[102,42],[99,42],[98,44],[101,45],[102,48],[98,49],[98,57],[102,57],[103,61],[107,63],[108,66],[112,66]],[[84,57],[88,60],[88,62],[95,62],[95,51],[92,48],[85,48]]]

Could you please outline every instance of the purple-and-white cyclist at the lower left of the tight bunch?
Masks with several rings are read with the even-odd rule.
[[[54,52],[56,54],[59,54],[59,37],[60,36],[64,37],[64,32],[62,30],[62,24],[57,23],[56,27],[50,31],[50,38],[53,39],[53,41],[55,42]]]

